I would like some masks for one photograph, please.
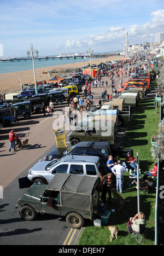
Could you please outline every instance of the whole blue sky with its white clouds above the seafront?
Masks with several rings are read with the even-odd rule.
[[[122,50],[164,32],[163,0],[0,0],[0,55],[39,56]]]

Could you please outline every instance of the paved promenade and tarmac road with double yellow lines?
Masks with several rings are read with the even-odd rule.
[[[110,79],[104,78],[104,82]],[[126,78],[123,79],[126,80]],[[118,88],[119,79],[116,79]],[[92,89],[94,101],[97,103],[103,88]],[[111,88],[107,88],[111,93]],[[66,105],[55,107],[65,110]],[[60,119],[61,120],[61,119]],[[17,200],[27,190],[26,176],[29,168],[46,153],[55,148],[53,124],[55,118],[34,115],[31,120],[20,120],[19,123],[0,130],[0,159],[3,199],[0,199],[0,245],[74,245],[81,230],[71,229],[65,218],[39,215],[33,222],[25,222],[15,209]],[[56,124],[56,121],[55,121]],[[14,129],[23,140],[29,139],[29,146],[9,152],[8,133]],[[66,136],[67,137],[67,136]]]

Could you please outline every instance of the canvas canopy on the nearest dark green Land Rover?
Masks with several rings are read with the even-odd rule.
[[[46,190],[61,191],[61,205],[90,210],[93,188],[98,178],[76,174],[56,173]]]

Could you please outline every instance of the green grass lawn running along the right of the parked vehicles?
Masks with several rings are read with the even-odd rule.
[[[155,82],[151,86],[156,86]],[[134,156],[139,152],[139,163],[142,173],[153,167],[153,158],[151,156],[151,136],[157,134],[159,124],[159,114],[155,113],[154,98],[147,98],[139,102],[133,115],[133,119],[128,127],[126,136],[122,142],[125,148],[132,148]],[[112,213],[108,225],[116,225],[119,228],[118,240],[114,238],[112,243],[109,242],[110,231],[107,225],[102,225],[101,228],[93,226],[93,222],[87,222],[84,228],[78,245],[138,245],[131,234],[127,233],[126,223],[130,217],[137,213],[137,189],[129,188],[128,173],[124,178],[124,194],[122,197],[129,201],[125,203],[122,210],[119,209],[119,201],[112,199],[109,205],[109,210],[114,208],[115,213]],[[154,245],[155,236],[155,189],[149,189],[149,194],[140,191],[140,211],[145,213],[147,219],[147,234],[143,238],[140,245]]]

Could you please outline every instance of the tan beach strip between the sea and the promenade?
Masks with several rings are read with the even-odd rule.
[[[101,62],[107,61],[116,61],[121,60],[122,56],[111,56],[106,58],[101,58],[98,60],[91,60],[92,64],[98,65]],[[43,72],[52,71],[52,69],[67,69],[72,68],[72,72],[75,68],[81,68],[86,66],[88,62],[78,62],[73,64],[66,64],[61,66],[53,66],[53,67],[46,67],[46,68],[38,68],[36,69],[36,77],[37,81],[40,80],[48,80],[48,74],[43,74]],[[55,75],[55,74],[54,74]],[[33,69],[27,71],[19,71],[19,72],[12,72],[12,73],[4,73],[0,74],[0,93],[7,94],[9,91],[20,91],[20,77],[22,84],[30,84],[34,82],[34,74]]]

